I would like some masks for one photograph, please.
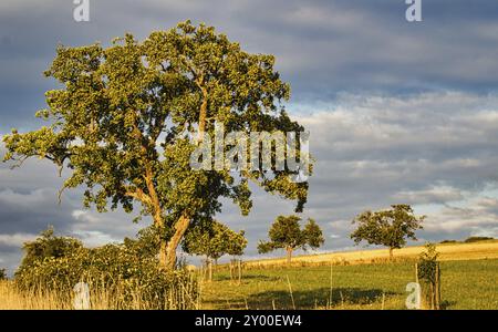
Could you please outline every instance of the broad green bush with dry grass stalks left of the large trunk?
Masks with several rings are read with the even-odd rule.
[[[52,248],[53,243],[68,243],[69,239],[54,237],[52,232],[50,237],[42,234],[34,242],[24,248]],[[185,270],[169,273],[159,270],[155,256],[139,255],[144,252],[139,240],[127,239],[125,243],[94,249],[61,247],[68,249],[63,255],[40,250],[37,252],[43,255],[24,258],[15,272],[18,288],[56,291],[70,300],[73,287],[85,282],[91,290],[107,293],[115,309],[135,309],[136,303],[141,309],[193,309],[197,304],[196,280]]]

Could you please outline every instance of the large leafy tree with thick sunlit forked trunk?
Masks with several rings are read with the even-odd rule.
[[[131,212],[138,203],[138,217],[152,216],[160,229],[159,264],[173,269],[186,230],[220,211],[221,198],[249,212],[250,181],[303,208],[308,183],[292,181],[288,168],[189,167],[215,122],[246,133],[303,131],[281,104],[290,89],[273,63],[189,21],[143,42],[126,34],[108,48],[59,46],[45,75],[62,87],[46,92],[48,108],[37,113],[48,125],[4,136],[4,159],[35,156],[68,168],[63,188],[85,186],[84,205],[98,211]]]

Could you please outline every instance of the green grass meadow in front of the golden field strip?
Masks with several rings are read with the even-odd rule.
[[[498,259],[443,261],[440,268],[446,309],[498,309]],[[240,286],[220,271],[205,283],[203,308],[404,309],[414,270],[412,262],[251,269]]]

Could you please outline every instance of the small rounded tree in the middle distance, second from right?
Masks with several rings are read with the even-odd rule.
[[[270,240],[259,242],[259,253],[284,249],[287,251],[287,262],[291,262],[292,252],[295,249],[307,250],[308,247],[317,249],[322,246],[325,239],[317,222],[313,219],[308,219],[304,229],[301,229],[300,221],[301,218],[294,215],[278,216],[268,231]]]

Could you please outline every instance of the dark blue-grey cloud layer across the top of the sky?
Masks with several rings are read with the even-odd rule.
[[[193,19],[216,25],[251,52],[273,53],[293,101],[339,92],[489,91],[498,83],[495,1],[424,1],[422,23],[390,1],[91,1],[91,21],[73,20],[72,1],[2,1],[0,129],[33,123],[42,77],[58,43],[104,44],[126,31],[145,38]]]

